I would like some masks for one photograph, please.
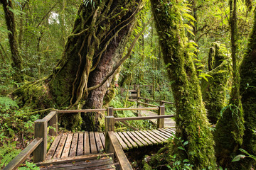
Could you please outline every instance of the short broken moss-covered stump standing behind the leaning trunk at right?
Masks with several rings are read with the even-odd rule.
[[[201,89],[207,117],[210,123],[215,124],[220,118],[220,111],[225,106],[225,91],[230,75],[228,60],[220,51],[218,42],[213,43],[213,47],[210,47],[208,70],[207,74],[210,77],[207,77],[207,80],[202,80]]]

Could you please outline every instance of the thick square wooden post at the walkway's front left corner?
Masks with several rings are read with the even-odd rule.
[[[42,162],[46,159],[46,149],[47,149],[47,121],[39,119],[35,121],[35,138],[43,137],[43,141],[38,147],[36,147],[33,152],[33,162]]]

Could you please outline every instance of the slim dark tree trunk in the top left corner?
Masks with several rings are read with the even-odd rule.
[[[8,30],[9,44],[11,48],[11,66],[14,68],[14,81],[16,83],[23,82],[23,72],[22,72],[22,59],[18,52],[18,42],[16,33],[16,23],[14,19],[14,13],[11,11],[13,9],[12,1],[0,0],[0,4],[3,4],[4,14],[6,18],[6,25]]]

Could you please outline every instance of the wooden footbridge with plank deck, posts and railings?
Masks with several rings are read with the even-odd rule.
[[[114,118],[114,111],[158,111],[158,115]],[[50,111],[35,121],[35,139],[4,169],[17,169],[33,152],[33,162],[41,169],[132,169],[124,150],[159,145],[174,135],[174,128],[164,128],[164,106],[151,108],[101,108],[86,110]],[[75,132],[58,135],[58,113],[86,113],[107,111],[105,132]],[[157,120],[155,130],[114,132],[114,123],[127,120]],[[52,127],[48,130],[48,126]],[[47,152],[47,137],[55,135]],[[115,158],[115,159],[114,159]],[[117,160],[117,162],[114,162]]]

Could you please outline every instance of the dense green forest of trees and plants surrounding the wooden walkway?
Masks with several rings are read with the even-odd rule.
[[[132,107],[121,88],[139,86],[142,97],[174,102],[166,110],[176,115],[176,136],[144,169],[255,168],[255,1],[0,0],[0,7],[0,167],[51,108]],[[60,126],[104,130],[103,120],[61,115]],[[116,128],[131,127],[155,128],[149,121]]]

